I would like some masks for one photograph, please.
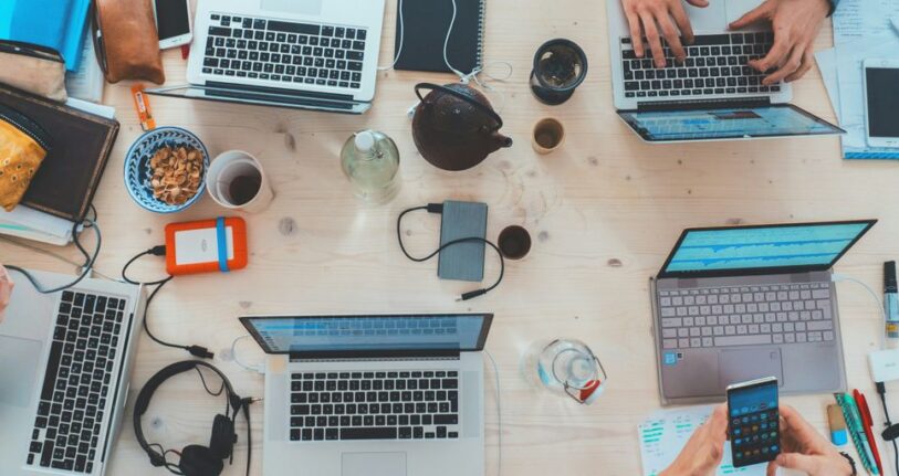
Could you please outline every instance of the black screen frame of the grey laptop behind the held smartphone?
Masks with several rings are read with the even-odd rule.
[[[686,229],[681,232],[678,242],[675,244],[675,247],[671,248],[671,253],[668,255],[668,258],[665,260],[665,264],[661,266],[659,271],[659,278],[698,278],[698,277],[721,277],[721,276],[755,276],[755,275],[764,275],[764,274],[793,274],[793,273],[809,273],[816,271],[827,271],[834,266],[834,264],[839,261],[859,240],[861,236],[865,236],[866,233],[877,223],[877,220],[849,220],[849,221],[835,221],[835,222],[813,222],[813,223],[777,223],[777,224],[767,224],[767,225],[745,225],[745,226],[710,226],[710,228],[696,228],[696,229]],[[757,230],[757,229],[776,229],[776,228],[798,228],[798,226],[828,226],[828,225],[848,225],[848,224],[867,224],[858,236],[853,240],[851,243],[846,245],[846,247],[840,252],[834,260],[829,263],[820,264],[820,265],[802,265],[802,266],[767,266],[767,267],[744,267],[744,268],[731,268],[731,269],[711,269],[711,271],[676,271],[676,272],[666,272],[668,266],[671,264],[671,261],[675,258],[675,254],[677,254],[680,245],[683,243],[683,240],[687,239],[687,235],[692,232],[709,232],[709,231],[724,231],[724,230]]]

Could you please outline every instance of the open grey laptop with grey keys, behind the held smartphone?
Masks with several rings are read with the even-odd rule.
[[[662,404],[846,390],[832,266],[876,220],[686,230],[651,281]]]

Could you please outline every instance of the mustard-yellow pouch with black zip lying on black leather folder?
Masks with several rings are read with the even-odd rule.
[[[0,105],[0,207],[11,212],[22,201],[49,149],[38,124]]]

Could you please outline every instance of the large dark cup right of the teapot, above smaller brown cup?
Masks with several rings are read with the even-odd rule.
[[[587,55],[571,40],[550,40],[534,54],[531,91],[544,104],[568,101],[587,76]]]

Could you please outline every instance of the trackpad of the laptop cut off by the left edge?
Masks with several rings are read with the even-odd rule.
[[[40,360],[41,342],[0,336],[0,403],[31,405]]]

